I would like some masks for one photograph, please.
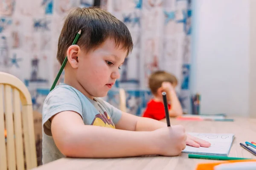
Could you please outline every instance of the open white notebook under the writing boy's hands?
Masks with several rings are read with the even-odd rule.
[[[189,133],[192,136],[206,140],[211,143],[210,147],[186,146],[182,153],[193,153],[203,155],[228,156],[234,139],[234,134],[222,133]]]

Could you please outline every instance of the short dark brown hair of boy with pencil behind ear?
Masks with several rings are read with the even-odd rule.
[[[96,7],[74,8],[67,15],[58,39],[57,59],[61,64],[80,29],[77,45],[86,53],[102,45],[107,38],[113,38],[116,46],[122,45],[127,55],[133,48],[128,28],[112,14]]]

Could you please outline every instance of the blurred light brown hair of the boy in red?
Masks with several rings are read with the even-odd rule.
[[[173,74],[166,71],[156,71],[149,76],[148,86],[152,94],[157,94],[158,88],[162,86],[163,82],[170,82],[172,85],[177,85],[177,78]]]

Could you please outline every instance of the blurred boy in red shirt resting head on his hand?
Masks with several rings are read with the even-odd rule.
[[[163,106],[163,91],[167,94],[169,116],[174,117],[182,115],[182,108],[175,92],[176,85],[177,79],[172,74],[165,71],[156,71],[151,74],[148,79],[148,86],[154,98],[148,102],[143,117],[156,120],[161,120],[166,117]]]

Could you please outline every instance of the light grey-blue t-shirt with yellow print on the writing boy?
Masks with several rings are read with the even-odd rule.
[[[52,138],[49,119],[62,111],[79,113],[84,125],[96,125],[115,128],[122,112],[100,98],[87,98],[80,91],[61,83],[47,96],[43,105],[43,164],[63,158],[64,155],[56,147]],[[75,114],[76,114],[75,113]]]

